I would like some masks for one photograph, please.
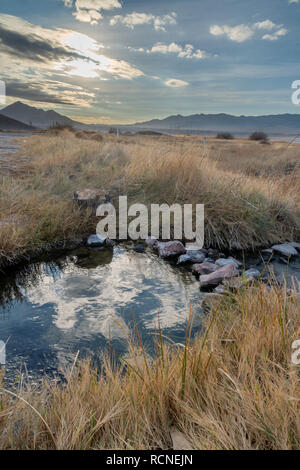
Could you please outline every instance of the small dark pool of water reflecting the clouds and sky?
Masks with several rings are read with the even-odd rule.
[[[53,375],[109,345],[126,355],[136,323],[152,354],[160,321],[166,340],[183,342],[190,306],[201,326],[199,283],[152,253],[125,247],[80,248],[68,256],[11,272],[0,281],[0,339],[6,376]]]

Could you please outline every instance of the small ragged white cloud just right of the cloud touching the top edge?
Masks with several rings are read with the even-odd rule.
[[[168,15],[155,16],[151,13],[129,13],[128,15],[116,15],[110,20],[112,26],[121,23],[127,28],[134,29],[135,26],[149,24],[154,27],[156,31],[166,31],[167,25],[176,24],[176,13],[172,12]]]

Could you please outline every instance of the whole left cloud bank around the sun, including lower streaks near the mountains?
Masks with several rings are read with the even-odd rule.
[[[84,78],[127,79],[143,72],[125,60],[107,57],[103,45],[67,29],[47,29],[0,14],[1,78],[7,95],[57,105],[90,106],[93,90]]]

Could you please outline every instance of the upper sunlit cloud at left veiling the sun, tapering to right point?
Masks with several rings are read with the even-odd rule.
[[[38,62],[52,71],[86,78],[105,74],[132,79],[143,75],[128,62],[103,55],[103,45],[85,34],[42,28],[10,15],[0,14],[0,43],[1,54],[11,60],[22,58],[23,66]]]

